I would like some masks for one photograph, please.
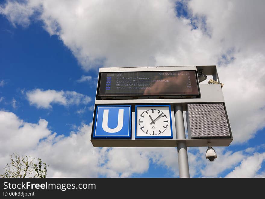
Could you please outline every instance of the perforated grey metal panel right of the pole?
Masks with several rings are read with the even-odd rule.
[[[223,104],[188,104],[189,138],[227,138],[230,131]]]

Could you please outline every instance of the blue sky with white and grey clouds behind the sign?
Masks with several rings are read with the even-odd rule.
[[[234,140],[215,162],[188,147],[190,175],[265,177],[264,6],[0,1],[0,172],[17,152],[47,162],[48,177],[179,177],[174,147],[92,146],[98,69],[216,65]]]

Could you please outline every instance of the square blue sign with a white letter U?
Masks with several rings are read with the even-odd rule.
[[[93,138],[130,139],[131,105],[97,106]]]

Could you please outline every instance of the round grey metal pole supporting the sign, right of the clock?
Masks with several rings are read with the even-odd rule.
[[[176,124],[176,136],[177,139],[186,139],[183,111],[181,105],[174,106],[175,112],[175,124]],[[189,162],[186,142],[180,142],[178,147],[178,160],[179,160],[179,177],[189,178]]]

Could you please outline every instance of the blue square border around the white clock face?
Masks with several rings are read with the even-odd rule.
[[[137,107],[157,107],[157,106],[168,106],[169,107],[169,119],[170,119],[170,131],[171,131],[171,136],[136,136],[136,131],[137,131]],[[172,120],[171,120],[171,106],[170,104],[168,105],[135,105],[135,139],[136,140],[161,140],[161,139],[173,139],[173,131],[172,131]]]

